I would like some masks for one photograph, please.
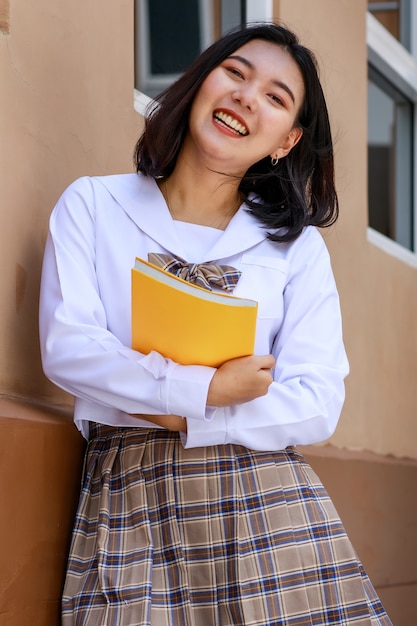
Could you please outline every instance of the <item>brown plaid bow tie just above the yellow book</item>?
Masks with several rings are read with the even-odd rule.
[[[187,263],[179,257],[156,252],[148,254],[148,261],[189,283],[210,291],[213,291],[211,285],[221,287],[226,291],[233,291],[242,273],[231,265]]]

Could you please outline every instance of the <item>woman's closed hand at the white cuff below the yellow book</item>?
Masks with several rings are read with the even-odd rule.
[[[265,396],[273,381],[271,369],[275,365],[272,354],[245,356],[226,361],[211,379],[207,404],[230,406],[243,404]]]

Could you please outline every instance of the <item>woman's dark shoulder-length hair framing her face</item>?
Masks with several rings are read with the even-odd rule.
[[[277,166],[271,165],[269,157],[254,163],[239,186],[251,213],[268,229],[268,237],[291,241],[307,225],[333,224],[339,206],[329,116],[316,59],[287,28],[279,24],[245,26],[202,52],[156,99],[136,144],[134,160],[137,171],[146,176],[165,178],[172,173],[188,130],[190,109],[202,82],[214,68],[253,39],[286,50],[297,63],[304,81],[305,97],[296,122],[303,130],[301,139]]]

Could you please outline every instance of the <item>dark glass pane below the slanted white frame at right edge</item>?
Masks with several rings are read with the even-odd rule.
[[[375,70],[368,86],[369,225],[413,249],[413,105]]]

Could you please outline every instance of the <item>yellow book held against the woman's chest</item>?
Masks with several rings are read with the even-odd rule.
[[[182,365],[218,367],[253,354],[258,303],[209,291],[136,259],[132,347]]]

